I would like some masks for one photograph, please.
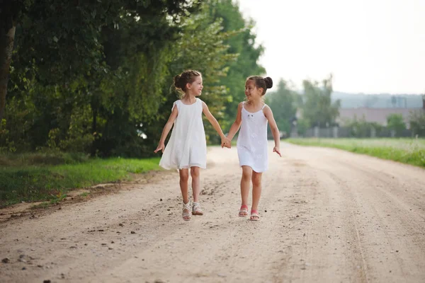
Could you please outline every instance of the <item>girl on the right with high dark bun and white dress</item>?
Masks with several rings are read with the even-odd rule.
[[[259,220],[258,206],[261,196],[261,175],[268,168],[267,123],[270,125],[275,146],[273,152],[280,156],[280,134],[271,109],[263,103],[267,88],[273,86],[270,77],[250,76],[245,82],[246,101],[239,103],[237,117],[227,137],[232,140],[239,127],[237,155],[242,167],[242,206],[239,216],[248,215],[249,187],[252,181],[252,207],[250,220]]]

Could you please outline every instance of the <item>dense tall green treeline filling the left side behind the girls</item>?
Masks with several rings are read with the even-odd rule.
[[[202,99],[227,128],[246,77],[265,72],[254,23],[232,0],[22,0],[0,11],[3,152],[150,156],[178,99],[174,75],[201,71]]]

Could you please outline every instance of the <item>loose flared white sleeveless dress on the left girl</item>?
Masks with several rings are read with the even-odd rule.
[[[165,169],[207,167],[207,140],[202,121],[202,100],[186,105],[177,100],[179,114],[174,121],[171,137],[164,149],[159,166]]]

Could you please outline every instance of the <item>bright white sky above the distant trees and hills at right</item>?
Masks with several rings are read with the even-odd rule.
[[[237,0],[267,75],[349,93],[425,93],[425,0]]]

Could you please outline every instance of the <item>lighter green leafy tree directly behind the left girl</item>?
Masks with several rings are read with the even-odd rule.
[[[223,125],[225,118],[225,102],[227,96],[225,86],[221,79],[227,74],[227,64],[234,62],[237,54],[229,53],[229,45],[225,42],[234,33],[223,31],[222,19],[212,18],[210,16],[210,4],[203,4],[199,13],[193,13],[190,17],[181,22],[181,37],[174,44],[173,60],[169,64],[169,84],[164,89],[164,105],[159,109],[159,115],[162,117],[149,123],[146,133],[148,137],[154,139],[156,143],[161,135],[161,129],[164,127],[168,115],[171,112],[171,105],[177,99],[176,92],[170,86],[172,76],[181,73],[185,69],[196,69],[203,74],[204,89],[200,97],[207,103],[210,112]],[[220,142],[215,129],[209,122],[205,124],[205,134],[208,142]],[[149,141],[147,141],[149,142]],[[156,144],[155,144],[156,145]]]

